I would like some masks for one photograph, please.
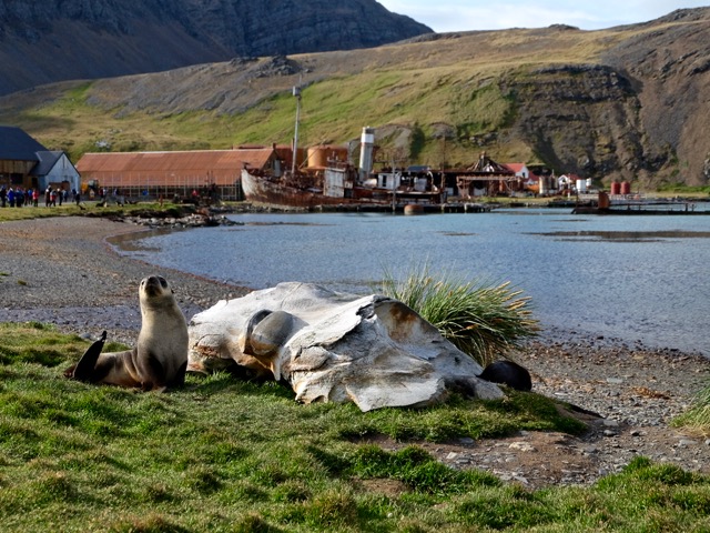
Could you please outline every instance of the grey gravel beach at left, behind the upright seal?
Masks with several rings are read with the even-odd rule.
[[[144,231],[83,217],[0,223],[0,322],[50,322],[85,336],[108,329],[114,340],[125,342],[140,329],[138,286],[146,275],[161,273],[170,281],[187,320],[219,300],[250,292],[122,257],[108,243],[112,237]]]

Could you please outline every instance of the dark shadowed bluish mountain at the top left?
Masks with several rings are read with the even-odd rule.
[[[0,94],[427,32],[375,0],[0,0]]]

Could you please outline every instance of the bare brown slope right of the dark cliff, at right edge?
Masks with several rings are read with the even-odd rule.
[[[650,175],[710,182],[710,9],[678,10],[640,24],[601,60],[633,90],[627,123],[639,133],[637,151]]]

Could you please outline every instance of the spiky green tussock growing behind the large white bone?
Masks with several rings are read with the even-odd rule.
[[[484,366],[538,331],[529,298],[507,282],[466,281],[450,272],[434,275],[422,264],[402,280],[385,271],[379,291],[406,303]]]

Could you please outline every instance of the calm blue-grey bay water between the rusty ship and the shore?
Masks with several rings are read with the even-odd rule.
[[[385,271],[428,262],[510,281],[544,328],[710,354],[710,217],[595,217],[556,210],[427,214],[244,214],[155,233],[126,253],[253,289],[311,281],[371,292]]]

